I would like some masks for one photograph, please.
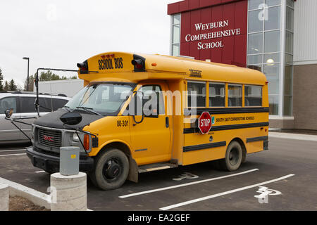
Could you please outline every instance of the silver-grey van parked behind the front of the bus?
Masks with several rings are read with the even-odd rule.
[[[5,110],[13,108],[11,119],[23,119],[25,117],[37,117],[35,110],[36,94],[32,92],[0,92],[0,143],[4,141],[29,141],[9,120],[6,120]],[[45,115],[62,108],[70,98],[63,94],[50,95],[39,94],[39,115]],[[20,120],[32,124],[35,119]],[[15,122],[27,136],[31,137],[32,127],[27,124]]]

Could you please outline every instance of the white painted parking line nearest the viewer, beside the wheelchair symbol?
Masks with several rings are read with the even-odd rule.
[[[176,207],[180,207],[180,206],[183,206],[183,205],[189,205],[189,204],[197,203],[197,202],[204,201],[204,200],[207,200],[207,199],[216,198],[216,197],[219,197],[219,196],[222,196],[222,195],[228,195],[230,193],[235,193],[235,192],[238,192],[238,191],[244,191],[244,190],[247,190],[249,188],[256,188],[256,187],[262,186],[264,184],[269,184],[269,183],[273,183],[273,182],[280,181],[280,180],[283,180],[283,179],[287,179],[290,176],[294,176],[294,174],[288,174],[286,176],[282,176],[280,178],[273,179],[273,180],[270,180],[270,181],[265,181],[265,182],[262,182],[262,183],[259,183],[259,184],[245,186],[243,188],[237,188],[237,189],[233,189],[231,191],[225,191],[225,192],[218,193],[218,194],[215,194],[215,195],[209,195],[209,196],[206,196],[206,197],[203,197],[203,198],[197,198],[197,199],[194,199],[194,200],[189,200],[189,201],[186,201],[184,203],[178,203],[178,204],[175,204],[175,205],[169,205],[169,206],[166,206],[166,207],[162,207],[159,210],[170,210],[170,209],[173,209],[173,208],[176,208]]]

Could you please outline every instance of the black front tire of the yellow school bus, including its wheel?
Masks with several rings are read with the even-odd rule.
[[[111,190],[122,186],[129,174],[128,157],[121,150],[111,148],[96,158],[92,183],[103,189]]]

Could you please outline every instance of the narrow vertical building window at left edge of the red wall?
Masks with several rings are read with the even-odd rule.
[[[172,15],[171,55],[180,56],[180,14]]]

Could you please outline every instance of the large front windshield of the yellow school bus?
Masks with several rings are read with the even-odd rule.
[[[66,105],[72,110],[89,110],[100,115],[117,115],[134,84],[95,83],[85,86]]]

